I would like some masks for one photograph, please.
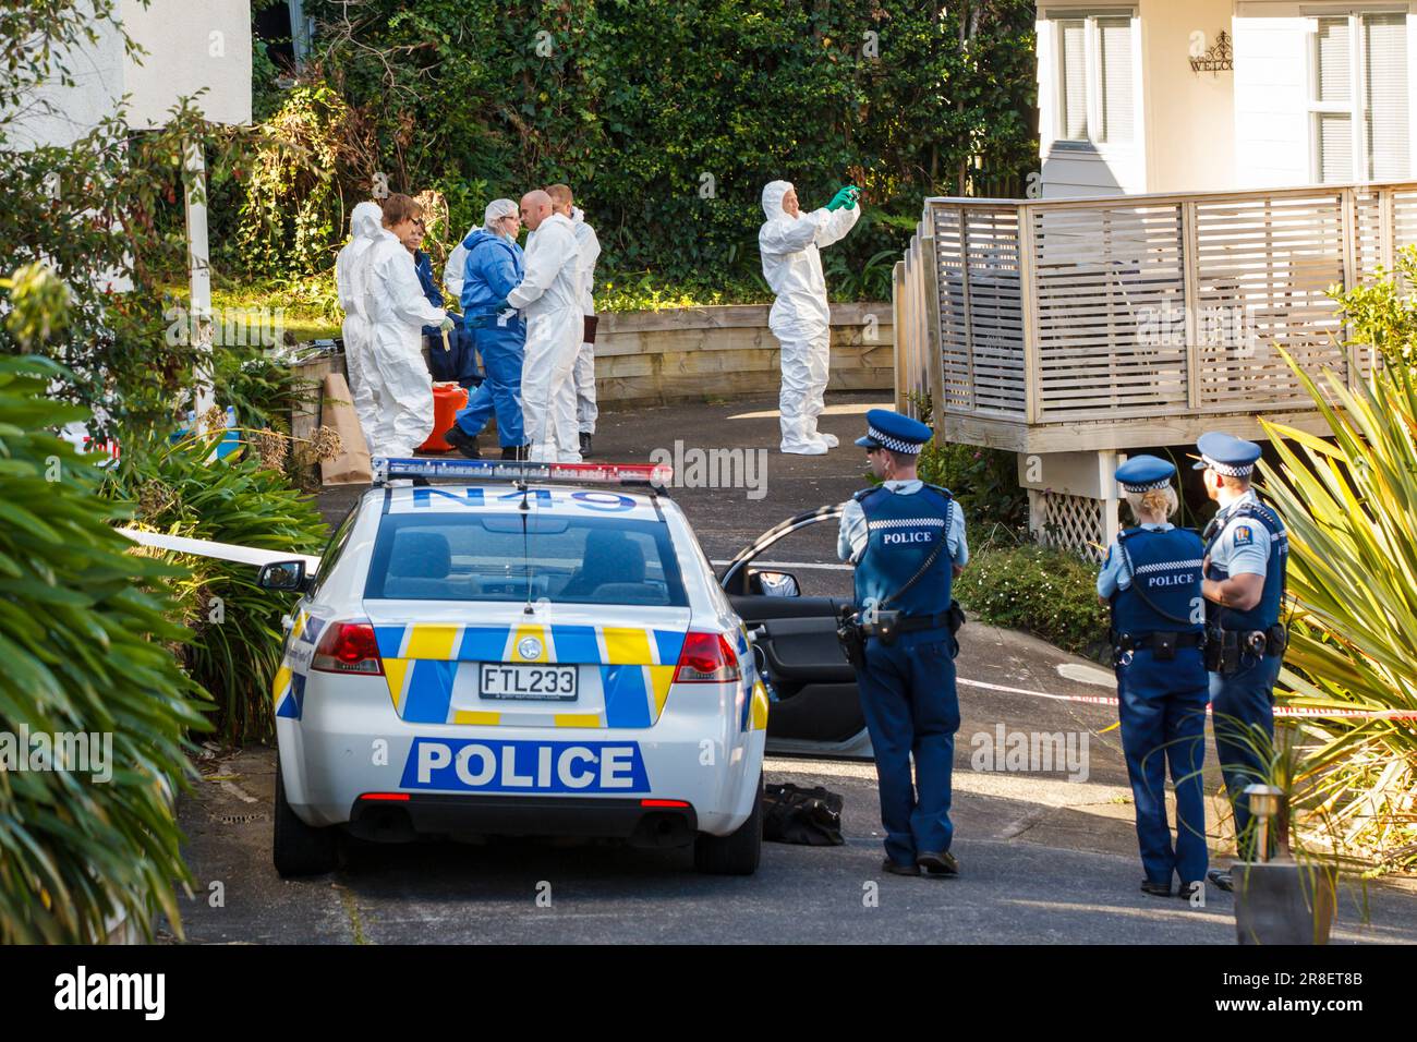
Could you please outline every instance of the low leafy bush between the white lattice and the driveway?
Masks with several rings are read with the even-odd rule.
[[[1097,600],[1097,566],[1037,544],[983,544],[955,580],[973,618],[1023,629],[1063,651],[1108,662],[1108,610]]]

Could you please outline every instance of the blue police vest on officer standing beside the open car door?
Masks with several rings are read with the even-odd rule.
[[[925,485],[914,495],[891,492],[884,485],[857,492],[853,499],[866,515],[866,551],[856,564],[856,607],[894,597],[920,571],[941,540],[949,537],[948,489]],[[955,533],[962,534],[962,533]],[[937,615],[949,610],[954,563],[948,543],[930,571],[887,608],[907,615]]]

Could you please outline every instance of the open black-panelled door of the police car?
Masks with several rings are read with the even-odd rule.
[[[754,634],[758,669],[769,682],[768,751],[870,757],[856,672],[836,639],[846,595],[803,595],[796,576],[755,567],[788,536],[842,516],[842,505],[788,517],[734,557],[720,580],[734,611]]]

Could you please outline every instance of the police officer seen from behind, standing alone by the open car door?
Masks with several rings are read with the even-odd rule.
[[[949,787],[959,696],[954,656],[954,577],[969,560],[965,517],[947,489],[915,476],[931,430],[891,410],[866,414],[866,449],[881,485],[842,513],[837,556],[856,566],[864,655],[856,665],[862,712],[876,751],[883,869],[954,876]],[[911,757],[915,774],[911,778]]]

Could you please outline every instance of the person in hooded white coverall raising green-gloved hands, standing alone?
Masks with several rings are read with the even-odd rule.
[[[822,247],[846,237],[856,224],[857,189],[847,186],[820,210],[803,214],[791,181],[768,181],[762,189],[758,251],[762,276],[777,301],[768,329],[782,344],[781,411],[784,452],[816,456],[836,448],[836,437],[820,434],[816,418],[830,364],[832,316],[822,278]]]

